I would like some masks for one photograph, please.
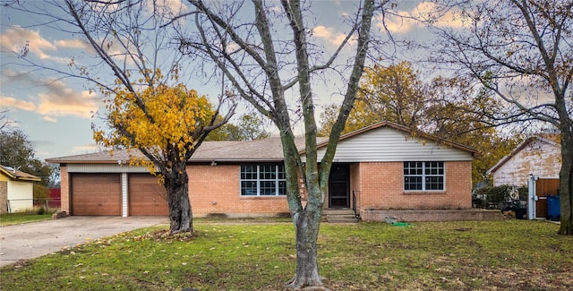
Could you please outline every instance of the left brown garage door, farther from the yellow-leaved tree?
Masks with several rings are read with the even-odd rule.
[[[73,173],[72,215],[121,215],[120,174]]]

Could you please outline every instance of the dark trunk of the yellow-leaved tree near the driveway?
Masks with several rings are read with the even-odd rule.
[[[169,233],[193,231],[191,202],[189,201],[189,177],[185,163],[176,163],[165,176],[167,205],[169,207]]]

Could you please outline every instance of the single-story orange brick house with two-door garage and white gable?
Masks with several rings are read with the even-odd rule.
[[[297,140],[304,159],[304,139]],[[328,141],[319,141],[319,160]],[[137,151],[133,150],[132,153]],[[325,208],[466,210],[479,153],[398,124],[372,124],[340,138]],[[72,215],[167,215],[165,190],[127,150],[47,159],[61,169],[62,210]],[[205,141],[187,166],[196,216],[288,213],[280,139]],[[301,191],[304,197],[304,191]]]

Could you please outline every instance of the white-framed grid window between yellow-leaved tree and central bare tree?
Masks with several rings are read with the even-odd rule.
[[[283,165],[241,166],[241,196],[278,195],[286,195],[286,177]]]

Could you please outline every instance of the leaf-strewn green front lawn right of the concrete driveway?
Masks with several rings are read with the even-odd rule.
[[[282,290],[290,223],[197,222],[191,239],[146,228],[0,269],[2,290]],[[573,237],[540,221],[322,224],[332,290],[567,290]]]

